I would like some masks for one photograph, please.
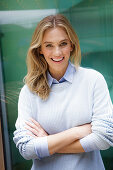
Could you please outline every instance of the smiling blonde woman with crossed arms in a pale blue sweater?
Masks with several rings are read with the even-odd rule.
[[[80,60],[78,37],[64,16],[39,22],[14,132],[32,170],[105,169],[99,150],[113,146],[112,103],[104,77]]]

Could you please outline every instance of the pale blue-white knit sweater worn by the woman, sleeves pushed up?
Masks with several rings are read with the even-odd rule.
[[[92,122],[92,133],[80,140],[86,152],[49,156],[46,137],[26,135],[25,121],[30,117],[48,134]],[[47,101],[25,85],[19,96],[16,129],[14,142],[25,159],[33,159],[32,170],[104,170],[99,150],[113,146],[113,108],[104,77],[79,67],[72,83],[52,84]]]

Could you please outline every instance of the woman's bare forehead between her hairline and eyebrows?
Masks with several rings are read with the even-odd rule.
[[[56,42],[62,41],[63,39],[69,39],[66,30],[62,27],[48,28],[44,35],[42,41]]]

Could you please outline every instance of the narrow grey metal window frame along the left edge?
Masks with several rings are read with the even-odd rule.
[[[12,170],[11,164],[11,152],[8,134],[8,123],[7,123],[7,112],[5,104],[5,91],[3,81],[3,67],[2,67],[2,48],[1,48],[1,37],[0,35],[0,119],[2,124],[2,136],[3,136],[3,152],[5,161],[5,170]]]

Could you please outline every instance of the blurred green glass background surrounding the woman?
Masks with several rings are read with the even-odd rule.
[[[34,29],[55,13],[70,20],[80,40],[81,65],[104,75],[113,102],[113,0],[0,0],[0,170],[31,168],[12,139],[18,95]],[[101,154],[106,170],[113,170],[113,148]]]

